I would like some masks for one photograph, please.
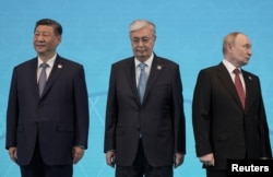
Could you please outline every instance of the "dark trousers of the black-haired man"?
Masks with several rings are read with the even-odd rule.
[[[47,165],[44,163],[38,143],[35,148],[32,162],[20,166],[22,177],[72,177],[73,165]]]

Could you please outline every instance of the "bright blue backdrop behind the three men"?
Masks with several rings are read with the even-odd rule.
[[[84,64],[86,73],[90,148],[74,166],[75,177],[114,176],[103,153],[109,71],[112,62],[132,56],[128,27],[135,19],[156,24],[155,52],[180,64],[187,155],[175,177],[201,177],[204,170],[195,156],[191,125],[192,92],[198,72],[223,59],[223,37],[229,32],[244,32],[252,40],[253,56],[245,69],[261,79],[273,138],[272,9],[272,0],[0,0],[0,176],[20,176],[4,150],[7,102],[13,67],[36,56],[32,38],[37,20],[51,17],[62,24],[58,52]]]

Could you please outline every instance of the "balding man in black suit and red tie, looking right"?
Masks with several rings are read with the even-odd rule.
[[[223,52],[222,63],[200,71],[192,103],[197,155],[207,177],[226,177],[227,160],[272,157],[259,78],[241,69],[251,43],[230,33]],[[237,81],[242,91],[237,92]]]

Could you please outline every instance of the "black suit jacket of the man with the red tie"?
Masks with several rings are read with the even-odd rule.
[[[192,103],[198,156],[214,153],[215,169],[228,158],[271,157],[269,128],[259,78],[242,70],[246,107],[223,63],[201,70]]]

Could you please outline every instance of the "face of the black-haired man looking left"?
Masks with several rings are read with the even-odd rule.
[[[61,42],[61,36],[56,36],[52,26],[39,25],[36,27],[33,45],[38,55],[51,55]]]

